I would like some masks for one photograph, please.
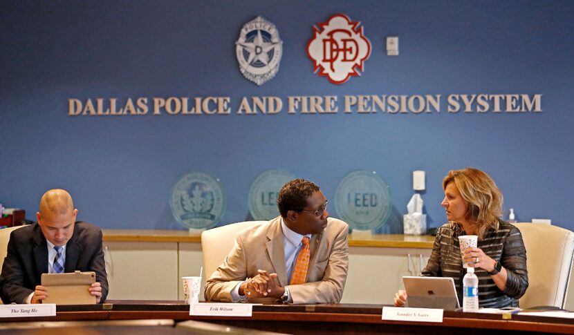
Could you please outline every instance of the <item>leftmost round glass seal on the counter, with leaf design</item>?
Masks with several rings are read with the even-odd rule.
[[[187,173],[174,184],[169,206],[183,227],[209,229],[225,211],[223,188],[219,180],[207,173]]]

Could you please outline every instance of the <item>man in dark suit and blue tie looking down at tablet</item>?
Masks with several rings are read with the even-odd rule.
[[[37,222],[12,231],[0,275],[3,303],[41,303],[48,296],[41,274],[94,271],[89,292],[106,300],[108,280],[102,251],[102,231],[77,222],[71,195],[52,189],[42,195]]]

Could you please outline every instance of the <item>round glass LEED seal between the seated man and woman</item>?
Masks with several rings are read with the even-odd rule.
[[[335,191],[335,210],[352,229],[381,227],[391,214],[391,191],[374,171],[346,175]]]

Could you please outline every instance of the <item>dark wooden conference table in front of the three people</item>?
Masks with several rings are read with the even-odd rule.
[[[186,320],[286,334],[574,334],[573,318],[445,311],[442,323],[382,320],[383,305],[253,305],[251,317],[190,316],[183,301],[108,300],[99,305],[58,305],[56,316],[2,318],[1,323]],[[1,324],[0,324],[1,325]],[[146,334],[149,334],[148,329]],[[153,332],[152,332],[153,333]],[[158,330],[157,334],[162,334]]]

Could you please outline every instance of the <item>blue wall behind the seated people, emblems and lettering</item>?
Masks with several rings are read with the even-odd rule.
[[[313,74],[313,24],[342,12],[372,45],[361,77]],[[283,59],[256,86],[234,41],[257,15],[277,26]],[[395,213],[411,171],[427,171],[430,227],[445,222],[450,169],[489,173],[505,217],[574,229],[573,1],[1,1],[0,202],[32,219],[46,189],[71,191],[80,219],[104,228],[179,229],[169,210],[189,171],[221,179],[222,222],[248,216],[251,182],[286,169],[332,199],[350,171],[377,171]],[[389,57],[385,37],[398,36]],[[542,94],[542,113],[68,116],[68,98],[290,95]],[[340,106],[340,110],[342,106]],[[331,212],[337,216],[334,209]]]

